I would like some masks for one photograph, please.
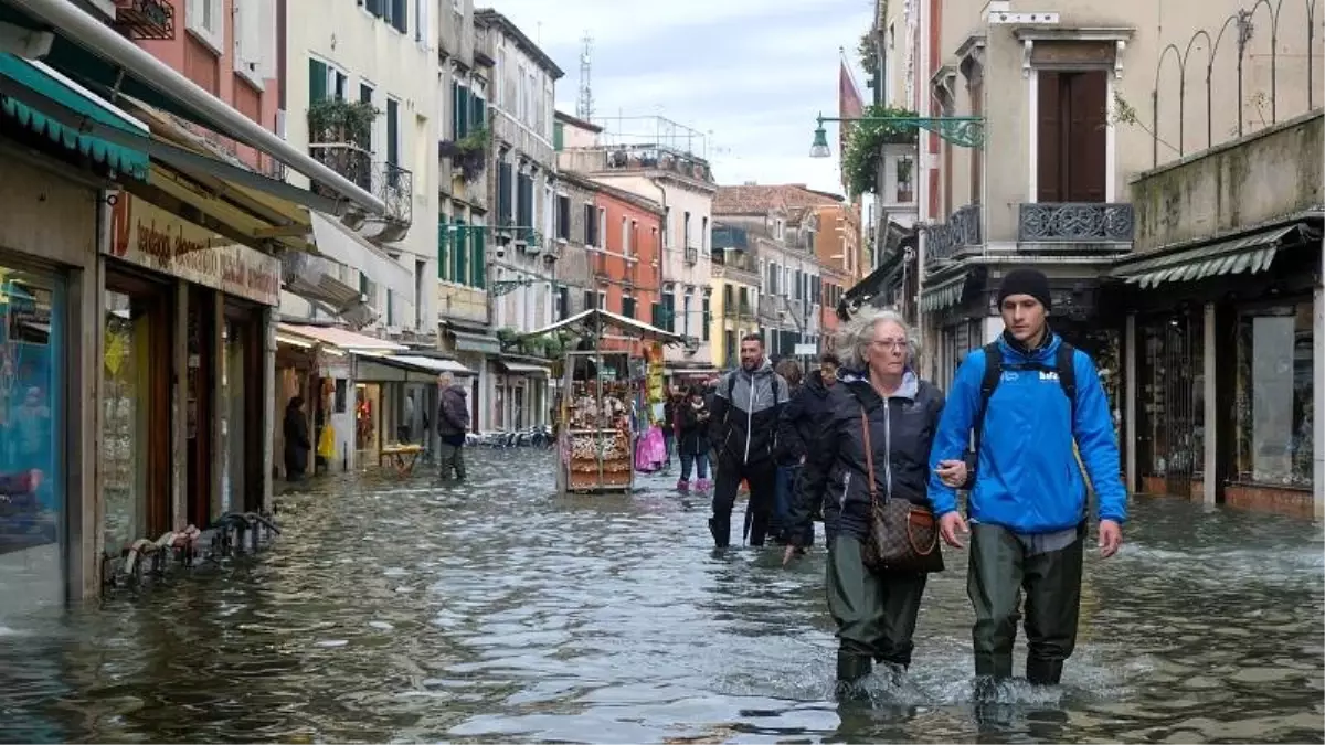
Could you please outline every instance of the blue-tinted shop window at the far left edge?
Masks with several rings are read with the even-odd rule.
[[[62,602],[64,288],[0,265],[0,611]]]

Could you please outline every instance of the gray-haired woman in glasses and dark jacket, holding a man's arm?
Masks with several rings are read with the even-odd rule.
[[[872,663],[886,665],[896,677],[912,661],[926,575],[871,571],[861,550],[873,500],[900,498],[929,509],[929,448],[943,394],[916,374],[917,339],[896,312],[861,314],[843,337],[841,384],[833,387],[796,484],[788,537],[795,541],[802,534],[815,502],[822,502],[828,612],[837,623],[837,689],[839,696],[852,697]],[[966,465],[955,461],[939,477],[961,485]],[[796,549],[787,546],[784,563]]]

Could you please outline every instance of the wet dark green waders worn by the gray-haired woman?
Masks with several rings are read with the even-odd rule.
[[[873,573],[860,555],[860,538],[828,541],[828,614],[837,622],[837,677],[856,680],[871,661],[910,665],[912,636],[925,574]]]

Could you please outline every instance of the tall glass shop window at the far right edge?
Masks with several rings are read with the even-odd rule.
[[[1310,302],[1239,313],[1235,384],[1238,479],[1310,487]]]

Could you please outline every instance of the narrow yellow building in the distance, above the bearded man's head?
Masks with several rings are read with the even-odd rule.
[[[713,227],[713,300],[709,337],[713,365],[734,367],[741,337],[759,333],[759,266],[746,232],[722,224]]]

